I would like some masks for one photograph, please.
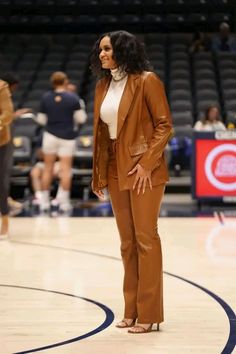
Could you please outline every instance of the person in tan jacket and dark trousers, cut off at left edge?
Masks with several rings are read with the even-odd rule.
[[[8,191],[9,191],[9,159],[12,144],[10,124],[13,120],[13,104],[8,84],[0,80],[0,212],[2,223],[0,239],[8,237]]]

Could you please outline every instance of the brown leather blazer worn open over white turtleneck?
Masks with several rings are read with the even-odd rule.
[[[98,81],[94,102],[93,188],[107,186],[109,133],[100,108],[110,79]],[[152,171],[153,186],[168,181],[165,146],[173,135],[171,115],[161,80],[152,72],[130,74],[121,98],[117,127],[117,171],[120,190],[131,189],[137,164]]]

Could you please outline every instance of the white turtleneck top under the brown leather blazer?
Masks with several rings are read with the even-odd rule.
[[[127,82],[127,74],[114,69],[111,70],[111,75],[112,80],[101,105],[100,117],[108,125],[110,138],[116,139],[118,109]]]

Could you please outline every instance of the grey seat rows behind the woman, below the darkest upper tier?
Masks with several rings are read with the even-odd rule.
[[[187,119],[193,124],[209,102],[218,103],[223,115],[235,110],[235,54],[202,52],[191,55],[188,53],[191,35],[185,33],[148,34],[144,40],[153,68],[165,82],[174,117],[183,113],[184,121]],[[66,44],[57,35],[2,38],[0,71],[12,70],[20,77],[20,88],[14,95],[16,106],[29,106],[37,111],[40,97],[49,87],[50,74],[64,70],[78,85],[88,112],[92,113],[95,80],[88,67],[93,41],[94,35],[70,35]]]

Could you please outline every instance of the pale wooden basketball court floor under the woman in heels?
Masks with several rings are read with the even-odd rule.
[[[12,218],[0,242],[0,353],[236,353],[236,219],[160,218],[165,322],[128,334],[110,218]]]

